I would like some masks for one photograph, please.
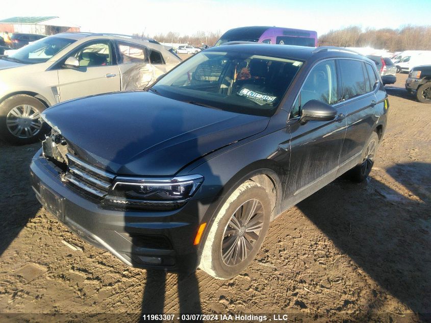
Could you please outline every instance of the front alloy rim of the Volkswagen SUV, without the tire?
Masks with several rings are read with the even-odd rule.
[[[221,259],[235,266],[253,251],[264,225],[264,210],[259,200],[244,202],[232,214],[223,233]]]

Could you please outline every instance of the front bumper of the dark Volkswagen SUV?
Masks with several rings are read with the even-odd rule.
[[[30,165],[32,188],[39,202],[87,242],[108,250],[129,266],[193,271],[198,247],[201,201],[170,211],[105,208],[61,180],[62,170],[37,152]]]

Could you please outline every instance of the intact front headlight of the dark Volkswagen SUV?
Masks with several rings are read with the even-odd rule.
[[[200,175],[173,179],[117,177],[104,203],[122,208],[174,210],[183,206],[203,181]]]

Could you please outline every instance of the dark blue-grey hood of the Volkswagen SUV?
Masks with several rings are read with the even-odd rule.
[[[146,176],[174,175],[201,156],[265,130],[269,122],[142,91],[68,101],[42,117],[82,160]]]

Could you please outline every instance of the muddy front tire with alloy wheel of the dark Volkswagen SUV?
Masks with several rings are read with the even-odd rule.
[[[214,219],[199,268],[218,279],[238,275],[256,257],[268,231],[270,214],[265,188],[253,181],[241,184]]]

